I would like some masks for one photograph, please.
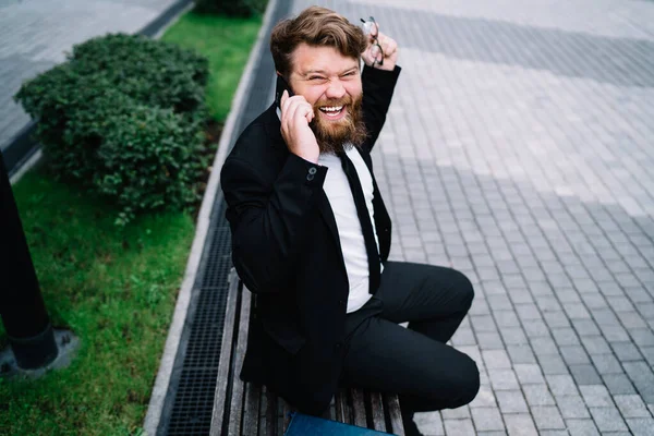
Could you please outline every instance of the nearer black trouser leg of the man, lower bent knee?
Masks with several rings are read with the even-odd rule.
[[[348,347],[346,382],[396,392],[411,412],[458,408],[477,392],[479,371],[472,359],[387,319],[365,319]]]

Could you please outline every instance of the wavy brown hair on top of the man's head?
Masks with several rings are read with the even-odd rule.
[[[286,78],[291,73],[293,51],[302,43],[334,47],[342,56],[355,59],[367,45],[361,27],[351,24],[344,16],[326,8],[307,8],[295,19],[277,23],[270,34],[275,69]]]

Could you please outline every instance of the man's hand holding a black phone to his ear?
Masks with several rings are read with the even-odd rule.
[[[279,105],[281,111],[281,136],[289,150],[304,160],[317,164],[320,149],[316,135],[308,123],[314,119],[313,107],[301,96],[289,97],[284,89]]]

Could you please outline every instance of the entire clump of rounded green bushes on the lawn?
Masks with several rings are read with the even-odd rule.
[[[75,46],[15,98],[38,120],[52,173],[114,202],[125,223],[197,199],[207,78],[207,60],[191,51],[107,35]]]

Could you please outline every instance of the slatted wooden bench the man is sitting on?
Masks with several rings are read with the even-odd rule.
[[[252,293],[241,283],[232,268],[222,332],[222,348],[211,436],[282,435],[292,409],[266,387],[243,383],[239,373],[243,364],[250,325]],[[331,420],[404,435],[397,396],[367,392],[362,389],[341,389],[330,405]]]

